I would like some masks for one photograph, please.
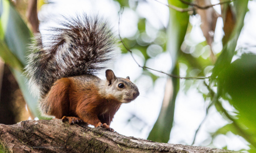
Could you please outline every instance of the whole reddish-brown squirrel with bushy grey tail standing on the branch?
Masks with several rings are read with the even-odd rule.
[[[117,54],[112,29],[87,14],[64,16],[57,23],[45,36],[35,35],[25,67],[30,85],[39,89],[41,113],[114,131],[110,123],[115,113],[139,90],[129,77],[118,78],[110,69],[106,80],[96,77]]]

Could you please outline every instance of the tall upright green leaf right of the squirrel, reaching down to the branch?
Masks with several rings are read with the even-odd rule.
[[[180,8],[187,8],[188,6],[180,1],[168,1],[169,5],[177,6]],[[170,53],[172,58],[172,69],[170,72],[179,75],[179,66],[177,63],[177,57],[180,52],[181,44],[184,40],[189,14],[187,12],[178,12],[173,9],[169,9],[169,24],[167,28],[167,52]],[[179,79],[172,78],[173,93],[165,91],[165,97],[158,119],[150,132],[147,139],[157,142],[167,143],[170,136],[170,131],[173,127],[175,100],[179,91]],[[168,86],[170,84],[166,84]],[[172,92],[172,91],[169,91]],[[172,96],[170,96],[172,95]],[[165,99],[165,98],[164,98]]]

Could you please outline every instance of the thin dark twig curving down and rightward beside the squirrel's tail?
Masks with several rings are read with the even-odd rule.
[[[193,80],[193,79],[197,79],[197,80],[211,79],[211,77],[179,77],[179,76],[177,76],[177,75],[168,74],[168,73],[165,73],[165,72],[163,72],[163,71],[159,71],[159,70],[156,70],[156,69],[153,69],[153,68],[150,68],[150,67],[141,66],[141,65],[136,61],[136,59],[135,59],[135,57],[134,57],[134,55],[133,55],[132,50],[130,50],[130,49],[125,45],[125,43],[123,42],[123,39],[122,39],[121,36],[120,36],[120,19],[121,19],[121,15],[122,15],[122,12],[123,12],[123,8],[121,8],[121,9],[122,9],[122,10],[120,10],[120,12],[119,12],[119,13],[120,13],[120,16],[119,16],[119,21],[118,21],[118,36],[119,36],[119,39],[120,39],[121,43],[123,44],[124,48],[125,48],[128,52],[130,52],[130,54],[131,54],[133,60],[136,62],[136,64],[137,64],[139,67],[141,67],[141,68],[143,68],[143,69],[150,69],[150,70],[153,70],[153,71],[156,71],[156,72],[160,72],[160,73],[166,74],[166,75],[168,75],[169,77],[172,77],[172,78],[187,79],[187,80]]]

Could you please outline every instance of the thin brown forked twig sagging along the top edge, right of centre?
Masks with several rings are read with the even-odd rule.
[[[160,2],[160,1],[158,1],[158,0],[154,0],[154,1],[156,1],[156,2],[158,2],[158,3],[161,3],[161,4],[165,5],[165,6],[171,8],[171,9],[174,9],[174,10],[176,10],[176,11],[179,11],[179,12],[188,12],[188,11],[194,11],[194,10],[197,10],[197,9],[202,9],[202,10],[208,9],[208,8],[214,7],[214,6],[216,6],[216,5],[222,5],[222,4],[225,4],[225,3],[230,3],[230,2],[232,2],[232,1],[234,1],[234,0],[224,1],[224,2],[220,2],[220,3],[218,3],[218,4],[212,4],[212,5],[207,5],[207,6],[199,6],[199,5],[194,4],[194,3],[189,3],[189,2],[186,2],[186,1],[184,1],[184,0],[180,0],[180,2],[192,6],[192,7],[190,7],[190,8],[179,8],[179,7],[176,7],[176,6],[174,6],[174,5],[164,4],[164,3],[162,3],[162,2]]]

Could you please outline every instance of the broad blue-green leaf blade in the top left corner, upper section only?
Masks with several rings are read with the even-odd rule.
[[[9,1],[0,1],[0,9],[1,40],[4,40],[11,52],[26,65],[26,51],[32,33]]]

